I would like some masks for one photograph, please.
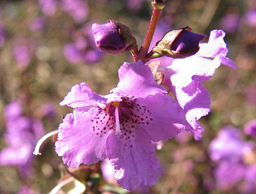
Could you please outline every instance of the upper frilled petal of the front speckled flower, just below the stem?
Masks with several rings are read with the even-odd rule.
[[[150,67],[141,61],[136,63],[124,62],[118,70],[119,83],[111,92],[122,95],[145,97],[149,94],[166,93],[166,89],[155,81]]]

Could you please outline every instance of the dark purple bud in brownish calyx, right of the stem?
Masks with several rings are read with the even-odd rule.
[[[162,40],[153,48],[153,57],[185,58],[195,55],[199,51],[199,42],[206,35],[191,32],[189,27],[180,28],[167,32]]]

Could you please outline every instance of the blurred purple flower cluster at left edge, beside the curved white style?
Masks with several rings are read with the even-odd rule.
[[[27,177],[32,170],[34,147],[44,135],[44,127],[39,120],[23,116],[19,102],[12,102],[5,107],[5,119],[7,147],[0,153],[0,164],[17,166],[20,175]]]

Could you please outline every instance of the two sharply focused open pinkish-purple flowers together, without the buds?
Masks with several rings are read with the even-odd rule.
[[[236,68],[226,58],[224,35],[212,31],[196,55],[160,65],[162,83],[177,101],[141,61],[120,67],[119,83],[108,95],[94,93],[86,83],[73,86],[60,103],[75,110],[59,126],[56,153],[70,167],[109,158],[117,182],[128,190],[155,184],[160,166],[152,142],[171,139],[182,129],[200,139],[203,128],[197,120],[210,111],[202,81],[221,64]]]

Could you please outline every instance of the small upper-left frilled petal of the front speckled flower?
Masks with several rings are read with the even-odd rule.
[[[97,104],[108,104],[113,101],[121,101],[117,94],[99,95],[92,91],[86,83],[76,84],[60,103],[61,106],[67,105],[72,108],[91,106]]]

